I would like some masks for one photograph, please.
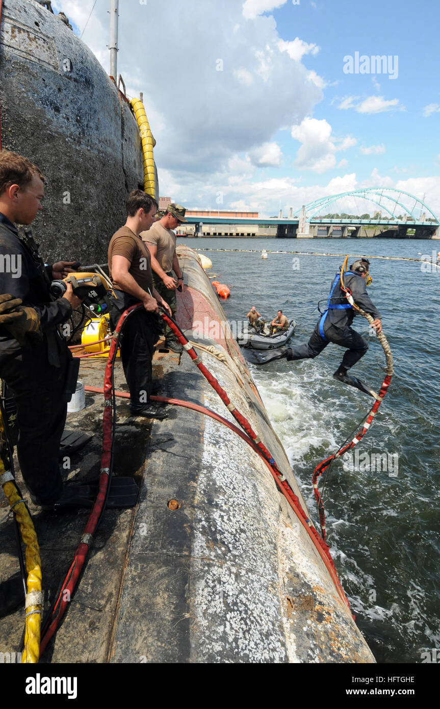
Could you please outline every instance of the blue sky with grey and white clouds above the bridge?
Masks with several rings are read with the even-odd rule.
[[[93,3],[52,5],[80,33]],[[108,4],[96,0],[83,36],[107,71]],[[119,14],[118,72],[128,94],[144,93],[161,194],[270,216],[395,186],[440,213],[432,1],[120,0]],[[344,73],[355,52],[393,57],[395,78]]]

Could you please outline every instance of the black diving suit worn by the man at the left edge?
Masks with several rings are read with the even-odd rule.
[[[0,257],[0,293],[10,293],[21,298],[23,306],[35,308],[43,330],[42,341],[22,347],[0,326],[0,377],[16,401],[17,453],[23,479],[35,503],[51,504],[62,493],[58,453],[67,413],[64,390],[72,362],[57,326],[71,316],[72,306],[65,298],[52,299],[52,269],[45,267],[33,239],[19,239],[16,228],[3,214]],[[11,257],[16,266],[13,274],[5,268]]]

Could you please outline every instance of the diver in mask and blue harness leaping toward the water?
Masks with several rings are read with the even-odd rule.
[[[369,265],[368,259],[362,258],[355,261],[351,264],[349,271],[344,274],[344,281],[346,289],[351,291],[356,305],[374,318],[372,325],[376,328],[376,332],[380,333],[382,330],[380,313],[366,292],[366,285],[371,283],[371,277],[368,272]],[[334,342],[335,345],[347,348],[342,358],[342,363],[333,374],[334,379],[371,394],[370,389],[365,384],[356,379],[356,377],[347,374],[348,370],[368,350],[366,340],[359,333],[356,333],[356,330],[351,328],[354,315],[355,311],[342,290],[340,274],[336,274],[327,300],[327,308],[317,323],[308,343],[297,347],[281,347],[279,350],[274,350],[268,354],[258,355],[255,362],[257,364],[267,364],[273,359],[286,358],[288,361],[293,359],[314,359],[327,347],[329,342]]]

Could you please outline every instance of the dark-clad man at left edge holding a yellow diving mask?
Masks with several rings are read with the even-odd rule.
[[[43,196],[38,167],[1,150],[0,294],[13,296],[21,317],[0,322],[0,377],[16,402],[21,474],[33,501],[51,506],[62,496],[58,453],[72,362],[58,327],[81,301],[71,284],[63,298],[50,295],[50,280],[66,277],[73,262],[45,267],[30,233],[19,236],[14,225],[30,225],[42,209]]]

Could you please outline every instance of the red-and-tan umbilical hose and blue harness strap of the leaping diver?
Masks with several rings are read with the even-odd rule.
[[[344,274],[351,273],[350,271],[346,271],[346,264],[348,262],[348,259],[349,259],[349,257],[346,256],[346,258],[344,260],[344,264],[341,269],[341,273],[338,274],[337,277],[334,279],[334,284],[332,286],[332,290],[330,291],[329,300],[328,300],[328,303],[330,303],[330,298],[332,297],[333,291],[336,288],[337,283],[340,282],[341,288],[345,293],[348,303],[341,305],[341,306],[331,306],[328,304],[327,308],[331,308],[331,307],[354,308],[354,310],[357,311],[361,316],[363,316],[363,318],[366,318],[366,320],[368,320],[368,323],[371,325],[371,323],[373,323],[373,318],[371,317],[371,315],[369,315],[369,313],[366,313],[365,311],[362,310],[362,308],[360,308],[358,305],[356,305],[356,303],[354,302],[353,296],[351,295],[350,289],[347,288],[344,283]],[[327,311],[325,311],[325,314],[322,316],[322,318],[320,320],[320,335],[322,335],[322,337],[324,337],[324,335],[321,333],[321,323],[324,322],[325,316],[327,316]],[[385,394],[388,391],[388,386],[390,386],[391,377],[393,376],[393,354],[391,354],[391,349],[390,349],[390,345],[388,344],[388,340],[386,339],[382,330],[380,331],[380,333],[376,333],[376,336],[380,342],[380,345],[382,345],[383,352],[385,352],[385,359],[386,359],[385,379],[383,379],[382,386],[380,386],[379,393],[374,395],[376,398],[376,401],[373,403],[373,406],[371,407],[370,411],[368,411],[368,415],[366,416],[366,419],[361,424],[361,430],[359,431],[359,433],[357,433],[355,435],[355,437],[350,442],[348,442],[348,443],[344,442],[336,453],[334,453],[330,457],[328,457],[325,460],[323,460],[322,462],[320,462],[320,464],[317,465],[317,467],[313,471],[313,476],[312,476],[313,492],[315,493],[315,500],[317,502],[318,513],[320,515],[321,534],[322,534],[322,539],[324,541],[326,540],[325,509],[324,509],[324,504],[322,502],[322,493],[320,493],[320,491],[318,490],[318,486],[317,486],[318,478],[325,471],[327,471],[327,474],[328,474],[328,471],[329,471],[330,466],[332,465],[332,462],[334,460],[336,460],[337,458],[340,458],[347,451],[351,450],[351,448],[354,448],[356,443],[359,443],[359,441],[366,434],[366,432],[368,431],[368,428],[370,428],[371,424],[373,423],[373,419],[376,416],[376,413],[378,413],[378,408],[383,401],[383,397],[385,396]],[[373,393],[373,392],[371,392],[371,393]]]

